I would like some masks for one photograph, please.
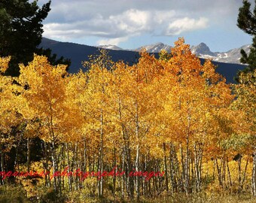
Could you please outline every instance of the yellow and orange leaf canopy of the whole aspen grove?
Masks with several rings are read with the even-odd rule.
[[[8,60],[0,61],[2,70]],[[0,89],[5,89],[0,92],[5,98],[1,107],[11,109],[20,102],[19,111],[28,121],[28,137],[86,139],[93,153],[99,150],[100,139],[104,150],[123,149],[127,144],[135,150],[139,144],[140,150],[151,150],[156,157],[163,156],[163,142],[184,146],[187,138],[188,147],[200,142],[202,147],[218,150],[215,142],[227,138],[230,129],[245,129],[229,109],[234,98],[230,86],[211,61],[200,64],[184,38],[160,59],[142,52],[136,65],[127,65],[111,61],[105,50],[100,50],[84,66],[89,68],[87,73],[67,75],[66,66],[53,66],[44,56],[35,56],[29,65],[20,65],[18,82],[23,91],[11,85],[12,78],[0,77]],[[18,97],[15,91],[22,94]],[[254,93],[244,85],[237,91],[246,98]],[[239,106],[243,102],[236,101]],[[246,107],[253,111],[253,105]],[[11,115],[7,117],[10,122],[15,120]],[[33,123],[37,118],[38,123]]]

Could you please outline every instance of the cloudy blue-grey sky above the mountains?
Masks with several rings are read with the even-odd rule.
[[[124,49],[173,45],[184,37],[190,45],[204,42],[212,51],[227,51],[251,44],[236,26],[241,6],[242,0],[52,0],[43,36]]]

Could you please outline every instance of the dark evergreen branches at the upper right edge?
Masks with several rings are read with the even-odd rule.
[[[253,36],[250,53],[246,54],[245,50],[241,50],[242,57],[240,61],[248,64],[243,72],[254,71],[256,67],[256,0],[254,10],[251,11],[251,3],[243,1],[243,5],[239,8],[239,15],[237,18],[237,26],[242,29],[248,35]],[[239,72],[239,74],[241,71]],[[239,76],[238,74],[238,76]]]

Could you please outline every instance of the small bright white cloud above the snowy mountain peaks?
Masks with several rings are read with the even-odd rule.
[[[169,23],[166,29],[166,35],[180,35],[182,32],[189,32],[197,29],[205,29],[208,25],[208,19],[200,17],[199,20],[184,17]]]

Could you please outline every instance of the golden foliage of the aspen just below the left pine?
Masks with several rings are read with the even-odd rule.
[[[22,95],[27,105],[23,109],[23,117],[38,120],[41,125],[40,138],[45,141],[62,139],[62,134],[67,130],[65,75],[66,65],[50,65],[45,56],[35,55],[29,65],[20,65],[19,83],[24,88]]]

